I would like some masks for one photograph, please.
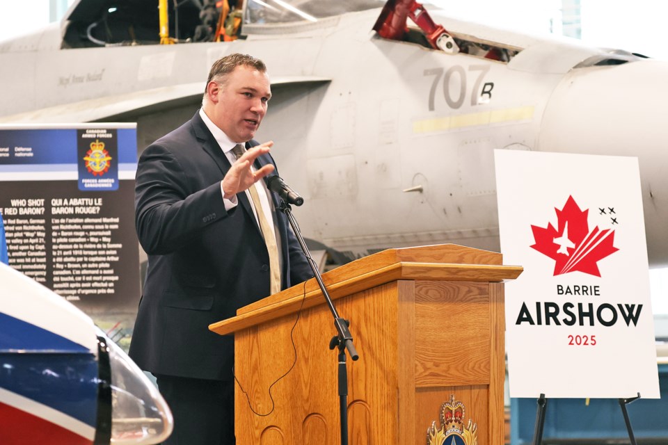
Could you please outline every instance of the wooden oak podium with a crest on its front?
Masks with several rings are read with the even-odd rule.
[[[432,245],[325,273],[360,355],[347,359],[349,444],[428,444],[452,395],[463,403],[462,426],[477,424],[477,441],[461,442],[502,445],[502,281],[521,272],[495,252]],[[337,332],[315,279],[209,329],[234,334],[237,444],[340,444],[338,350],[329,349]]]

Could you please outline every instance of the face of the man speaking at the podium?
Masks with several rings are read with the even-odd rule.
[[[220,85],[214,123],[234,142],[246,142],[260,127],[270,97],[267,73],[240,65]]]

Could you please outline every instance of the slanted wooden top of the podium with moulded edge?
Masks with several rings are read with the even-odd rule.
[[[322,275],[332,300],[396,280],[502,282],[522,273],[520,266],[504,266],[502,255],[455,244],[388,249],[352,261]],[[209,325],[221,335],[231,334],[273,318],[324,304],[315,278],[251,303],[237,316]]]

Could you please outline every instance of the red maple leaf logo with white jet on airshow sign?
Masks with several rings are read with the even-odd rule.
[[[580,210],[572,196],[563,209],[555,211],[557,229],[551,223],[544,229],[532,225],[536,244],[531,247],[556,261],[554,276],[580,270],[600,277],[597,262],[619,250],[612,245],[614,230],[596,226],[589,232],[589,210]]]

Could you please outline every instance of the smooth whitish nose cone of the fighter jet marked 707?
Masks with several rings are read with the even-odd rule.
[[[637,156],[649,261],[668,264],[668,62],[638,60],[573,69],[550,97],[541,152]]]

